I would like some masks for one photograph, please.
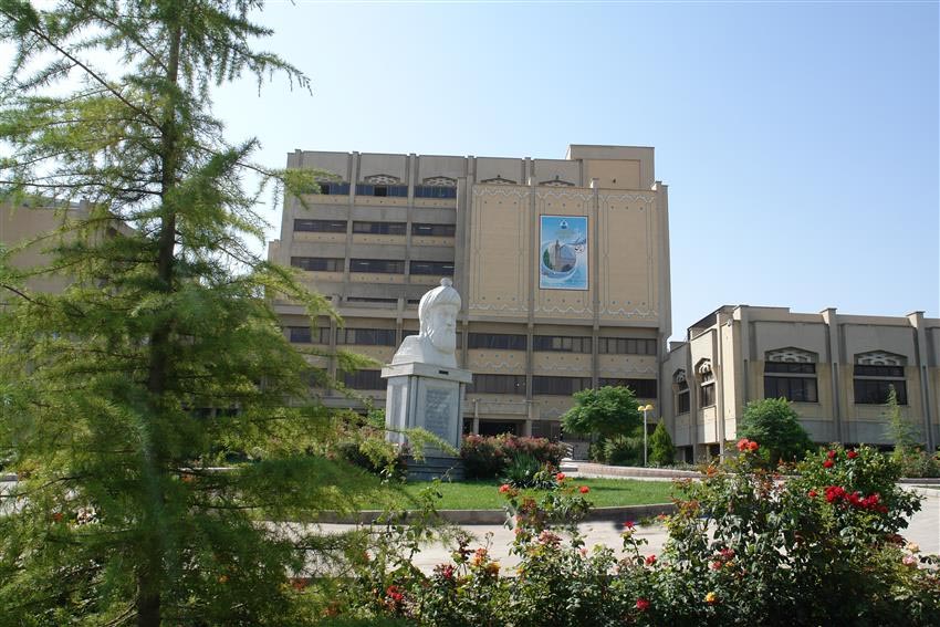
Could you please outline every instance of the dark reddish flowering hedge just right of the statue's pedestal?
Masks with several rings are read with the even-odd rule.
[[[510,435],[470,435],[463,438],[460,446],[460,459],[468,479],[494,479],[516,454],[534,458],[540,467],[557,468],[565,454],[565,448],[545,438],[520,438]]]

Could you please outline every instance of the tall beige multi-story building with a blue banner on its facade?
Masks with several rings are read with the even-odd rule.
[[[311,328],[302,307],[278,302],[293,342],[388,363],[418,331],[421,294],[451,276],[463,299],[458,364],[473,373],[467,431],[557,436],[571,395],[599,385],[656,403],[670,291],[652,148],[571,146],[565,159],[296,150],[288,167],[332,176],[303,202],[285,198],[269,255],[304,271],[345,321]],[[335,357],[320,364],[336,373]],[[379,367],[345,383],[383,406]]]

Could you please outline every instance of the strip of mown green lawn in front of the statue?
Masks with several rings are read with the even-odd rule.
[[[587,485],[591,489],[587,499],[597,508],[668,503],[672,494],[672,483],[669,481],[635,479],[568,479],[568,481],[578,487]],[[376,494],[374,500],[363,502],[359,506],[364,510],[380,510],[383,502],[390,502],[407,508],[407,501],[412,500],[428,485],[428,483],[408,483],[401,489],[390,488],[388,492]],[[505,502],[499,493],[498,481],[461,481],[438,485],[443,495],[438,501],[439,510],[499,510]],[[534,491],[523,491],[523,493],[534,493]]]

